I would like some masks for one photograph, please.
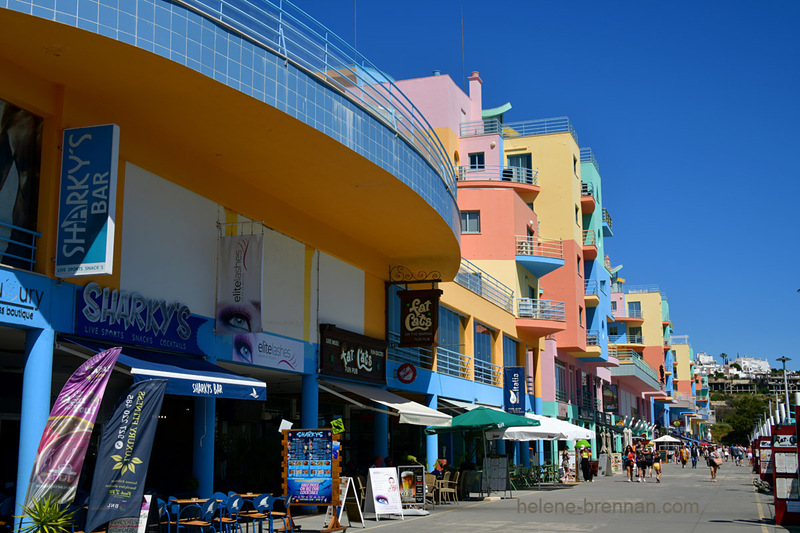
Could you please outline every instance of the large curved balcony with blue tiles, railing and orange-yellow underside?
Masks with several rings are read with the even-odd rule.
[[[0,10],[0,61],[24,65],[11,87],[30,107],[115,122],[129,160],[370,271],[400,264],[452,279],[449,156],[391,78],[343,40],[285,0],[97,4]],[[60,117],[65,102],[90,111]]]

